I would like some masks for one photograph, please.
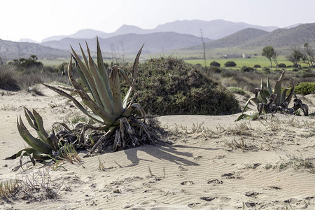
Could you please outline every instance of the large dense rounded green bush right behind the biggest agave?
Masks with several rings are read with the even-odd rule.
[[[225,87],[181,59],[161,57],[139,65],[137,102],[158,115],[237,113],[239,104]]]

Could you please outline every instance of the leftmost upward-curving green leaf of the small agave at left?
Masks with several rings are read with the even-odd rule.
[[[20,124],[18,123],[18,130],[21,134],[21,137],[27,142],[27,144],[29,144],[29,146],[35,148],[37,151],[41,152],[41,153],[45,153],[48,155],[52,154],[52,148],[51,146],[49,146],[48,144],[43,143],[43,141],[41,141],[40,139],[36,139],[35,137],[33,137],[29,131],[27,130],[27,128],[25,127],[25,125],[23,124],[22,118],[20,116]]]

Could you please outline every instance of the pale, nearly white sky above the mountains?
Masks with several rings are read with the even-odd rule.
[[[4,0],[0,38],[41,41],[80,29],[110,33],[122,25],[153,29],[175,20],[287,27],[315,22],[314,0]]]

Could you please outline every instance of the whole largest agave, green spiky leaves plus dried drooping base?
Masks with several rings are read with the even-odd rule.
[[[97,63],[92,59],[90,49],[87,47],[87,57],[83,52],[83,48],[80,45],[80,50],[82,53],[83,61],[79,58],[77,53],[72,49],[72,56],[68,66],[68,75],[73,89],[65,87],[52,87],[46,85],[46,87],[54,90],[58,94],[61,94],[71,101],[92,120],[102,123],[102,127],[97,128],[97,130],[104,130],[104,134],[96,144],[94,144],[90,153],[92,153],[98,146],[100,146],[104,141],[110,139],[113,140],[113,151],[120,148],[125,148],[127,144],[136,145],[140,141],[149,141],[154,143],[151,137],[158,140],[158,137],[151,132],[151,127],[148,127],[145,123],[145,114],[139,104],[133,103],[134,96],[137,91],[134,87],[134,83],[137,78],[137,66],[139,64],[139,57],[141,54],[141,49],[139,50],[136,59],[134,60],[134,65],[132,67],[132,79],[128,78],[125,71],[120,69],[118,66],[113,66],[111,69],[106,69],[104,66],[101,48],[99,46],[99,41],[97,38]],[[73,69],[72,61],[76,61],[78,75],[83,80],[83,83],[88,88],[89,92],[85,92],[83,87],[76,83],[73,79]],[[129,90],[125,97],[122,97],[120,90],[120,77],[125,78],[127,83],[130,85]],[[63,90],[61,90],[62,88]],[[70,91],[71,94],[64,92],[64,90]],[[136,93],[132,97],[132,90]],[[77,93],[82,99],[82,103],[78,102],[72,94]],[[86,109],[87,107],[88,109]],[[140,121],[134,116],[132,116],[132,109],[138,109],[144,120]],[[136,134],[137,133],[137,134]],[[141,139],[136,136],[141,135]],[[81,135],[82,136],[82,135]],[[80,141],[85,141],[84,138],[80,138]],[[84,142],[81,142],[84,143]]]

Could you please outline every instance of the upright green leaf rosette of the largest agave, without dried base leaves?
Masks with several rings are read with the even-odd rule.
[[[137,77],[137,66],[139,64],[139,57],[141,54],[143,46],[139,50],[136,59],[134,60],[134,65],[132,68],[133,78],[127,77],[125,71],[120,69],[118,66],[113,66],[109,71],[107,71],[106,67],[104,66],[102,52],[99,47],[99,40],[97,38],[97,64],[92,59],[90,49],[87,45],[87,54],[83,52],[83,49],[80,45],[80,50],[82,53],[83,61],[78,57],[77,53],[71,47],[73,52],[71,56],[71,60],[68,66],[68,75],[71,84],[73,85],[74,89],[71,90],[72,92],[76,92],[80,95],[83,104],[87,106],[90,110],[85,109],[83,104],[80,104],[78,100],[60,90],[57,87],[52,87],[50,85],[44,84],[46,87],[49,87],[51,90],[63,95],[71,99],[71,101],[83,111],[89,118],[97,121],[98,123],[102,123],[105,125],[106,130],[109,129],[111,126],[119,125],[120,118],[130,116],[132,107],[139,108],[137,104],[132,104],[132,99],[130,101],[130,97],[132,95],[132,90],[136,91],[134,87],[134,82]],[[78,75],[83,80],[84,85],[90,90],[90,94],[87,94],[83,87],[76,83],[72,76],[72,59],[75,59],[77,63],[77,70]],[[120,90],[120,77],[125,78],[127,83],[130,85],[127,94],[125,95],[124,99],[122,99],[122,94]],[[61,87],[64,90],[69,90],[67,88]],[[137,92],[137,91],[136,91]],[[91,95],[91,96],[90,96]],[[139,108],[141,109],[141,108]]]

